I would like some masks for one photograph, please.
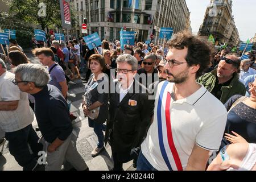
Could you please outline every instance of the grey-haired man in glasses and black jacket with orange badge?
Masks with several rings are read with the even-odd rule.
[[[138,61],[134,56],[121,55],[117,59],[118,83],[110,94],[110,143],[114,171],[123,170],[122,164],[134,159],[136,164],[141,143],[150,125],[153,101],[147,88],[134,79]],[[107,136],[108,137],[108,136]]]

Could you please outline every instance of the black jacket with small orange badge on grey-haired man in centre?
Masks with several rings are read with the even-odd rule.
[[[107,130],[110,129],[110,133],[112,132],[110,135],[112,151],[125,152],[141,146],[151,122],[154,100],[148,99],[147,88],[137,80],[134,80],[129,93],[121,102],[119,102],[119,83],[115,84],[115,88],[117,88],[115,93],[110,94],[110,119]]]

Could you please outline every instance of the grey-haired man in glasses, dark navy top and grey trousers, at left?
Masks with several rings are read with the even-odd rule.
[[[35,97],[36,120],[47,144],[46,170],[60,171],[64,159],[76,170],[88,169],[72,141],[73,127],[67,101],[59,89],[47,85],[46,69],[39,64],[20,64],[15,80],[22,92]]]

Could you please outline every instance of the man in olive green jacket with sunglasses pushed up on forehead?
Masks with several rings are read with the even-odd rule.
[[[205,73],[197,79],[197,82],[204,85],[223,104],[230,97],[241,94],[245,95],[245,85],[239,81],[240,60],[234,55],[227,55],[221,58],[218,68],[210,73]]]

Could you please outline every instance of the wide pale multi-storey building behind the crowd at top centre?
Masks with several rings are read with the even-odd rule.
[[[135,41],[159,41],[160,27],[172,27],[174,33],[189,30],[189,11],[185,0],[72,0],[78,20],[75,36],[82,37],[81,24],[88,34],[98,32],[101,39],[119,40],[119,31],[135,31]]]

